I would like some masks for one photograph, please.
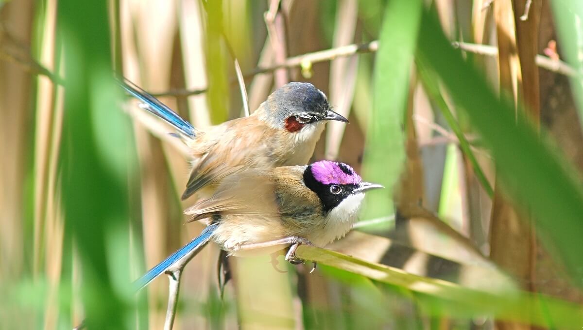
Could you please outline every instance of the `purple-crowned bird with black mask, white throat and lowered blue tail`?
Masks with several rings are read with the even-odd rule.
[[[291,246],[286,260],[300,263],[297,246],[324,246],[346,235],[364,192],[374,188],[382,186],[363,182],[352,167],[328,160],[231,175],[209,199],[185,210],[192,216],[189,221],[205,219],[201,235],[139,278],[136,289],[210,241],[234,256]]]

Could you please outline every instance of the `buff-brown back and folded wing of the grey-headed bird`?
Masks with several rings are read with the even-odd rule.
[[[193,146],[195,158],[182,199],[186,199],[205,186],[217,186],[231,174],[247,168],[272,167],[270,146],[273,129],[257,117],[244,117],[228,121],[206,134],[213,141]]]

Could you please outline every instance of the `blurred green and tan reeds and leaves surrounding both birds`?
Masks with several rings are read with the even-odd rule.
[[[324,91],[313,160],[391,189],[318,270],[186,268],[175,329],[581,329],[579,0],[0,1],[0,327],[160,329],[194,238],[188,154],[117,72],[206,127],[288,81]],[[147,291],[147,292],[145,292]]]

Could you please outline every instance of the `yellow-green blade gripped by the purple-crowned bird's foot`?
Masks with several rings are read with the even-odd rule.
[[[410,290],[417,303],[431,315],[474,317],[495,315],[501,320],[525,322],[548,327],[549,319],[557,328],[575,329],[583,321],[583,307],[552,299],[543,295],[508,290],[493,294],[473,290],[452,282],[409,274],[399,268],[368,263],[342,253],[318,247],[302,245],[296,255],[304,260],[315,261],[353,274],[363,275],[375,281]],[[326,271],[325,267],[325,271]],[[544,309],[540,304],[544,304]],[[525,307],[526,306],[526,307]]]

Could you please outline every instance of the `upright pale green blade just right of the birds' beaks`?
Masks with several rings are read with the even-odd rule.
[[[367,197],[363,218],[392,213],[392,186],[405,161],[403,121],[409,74],[419,29],[422,1],[390,1],[385,9],[374,71],[373,109],[369,117],[363,172],[387,189]]]

